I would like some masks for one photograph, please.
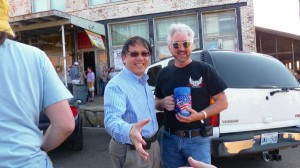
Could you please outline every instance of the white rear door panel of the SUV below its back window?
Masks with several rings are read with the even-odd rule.
[[[280,89],[227,89],[229,106],[220,113],[220,133],[300,125],[300,92],[271,96],[276,90]]]

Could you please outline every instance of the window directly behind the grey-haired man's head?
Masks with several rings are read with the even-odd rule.
[[[198,20],[197,15],[176,16],[155,20],[155,62],[170,56],[167,45],[168,28],[172,23],[183,23],[195,32],[194,48],[199,48]]]

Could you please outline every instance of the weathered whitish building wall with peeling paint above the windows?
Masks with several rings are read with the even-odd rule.
[[[12,17],[32,12],[32,0],[9,0],[9,2]],[[244,51],[256,51],[252,0],[127,0],[96,6],[89,6],[89,0],[66,0],[65,12],[93,21],[103,21],[239,2],[247,2],[247,6],[240,9],[242,49]]]

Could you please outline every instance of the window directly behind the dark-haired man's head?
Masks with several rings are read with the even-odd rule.
[[[133,36],[141,36],[146,40],[149,40],[148,23],[146,21],[129,22],[113,24],[110,27],[111,34],[111,47],[110,47],[110,60],[111,65],[115,66],[118,60],[114,60],[114,55],[120,55],[121,49],[126,40]],[[120,58],[120,57],[119,57]],[[121,67],[119,68],[121,69]]]

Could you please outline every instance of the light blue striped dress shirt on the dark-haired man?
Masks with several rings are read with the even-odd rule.
[[[107,132],[122,144],[132,144],[129,132],[134,123],[150,118],[142,129],[142,136],[150,138],[158,130],[154,96],[147,83],[124,68],[111,79],[104,93],[104,125]]]

